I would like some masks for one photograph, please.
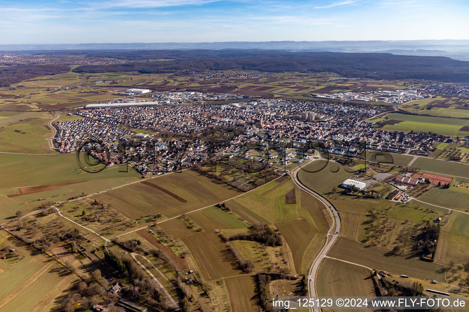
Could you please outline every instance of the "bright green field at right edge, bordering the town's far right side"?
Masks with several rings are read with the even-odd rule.
[[[386,131],[431,132],[451,137],[469,135],[469,128],[463,128],[469,125],[469,120],[465,119],[399,113],[391,113],[386,117],[395,121],[395,124],[385,124],[382,127]]]

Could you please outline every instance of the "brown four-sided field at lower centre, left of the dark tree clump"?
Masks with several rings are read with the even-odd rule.
[[[206,280],[239,274],[238,264],[216,232],[200,232],[182,238]]]

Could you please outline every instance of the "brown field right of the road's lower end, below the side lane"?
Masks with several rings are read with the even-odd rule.
[[[335,259],[324,259],[317,278],[318,296],[377,296],[371,271]]]

